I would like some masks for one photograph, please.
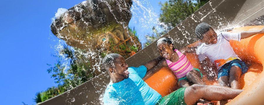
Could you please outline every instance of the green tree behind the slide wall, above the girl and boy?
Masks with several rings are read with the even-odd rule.
[[[161,35],[165,34],[167,30],[177,26],[180,22],[185,20],[187,17],[192,15],[196,10],[201,8],[209,0],[169,0],[161,5],[160,22],[164,24],[161,27],[167,29],[163,32],[158,33],[155,27],[153,27],[154,34],[146,35],[147,42],[144,43],[144,47],[155,41]]]

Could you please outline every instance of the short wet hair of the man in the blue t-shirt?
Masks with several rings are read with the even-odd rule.
[[[114,67],[114,62],[116,61],[116,58],[120,57],[121,55],[116,54],[116,53],[110,53],[107,54],[102,61],[103,68],[106,71],[109,71],[108,69],[111,67]]]

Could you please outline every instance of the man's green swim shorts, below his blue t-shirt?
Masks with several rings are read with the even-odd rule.
[[[184,101],[185,88],[180,88],[169,95],[162,97],[156,105],[186,105]]]

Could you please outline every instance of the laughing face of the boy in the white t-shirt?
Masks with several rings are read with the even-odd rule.
[[[204,34],[204,38],[200,40],[202,43],[205,44],[215,44],[217,43],[217,34],[214,29],[210,29]]]

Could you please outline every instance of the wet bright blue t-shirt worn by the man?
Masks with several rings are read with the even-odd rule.
[[[145,66],[129,67],[127,79],[118,83],[110,82],[105,90],[105,105],[154,105],[161,95],[150,88],[142,78],[147,72]]]

